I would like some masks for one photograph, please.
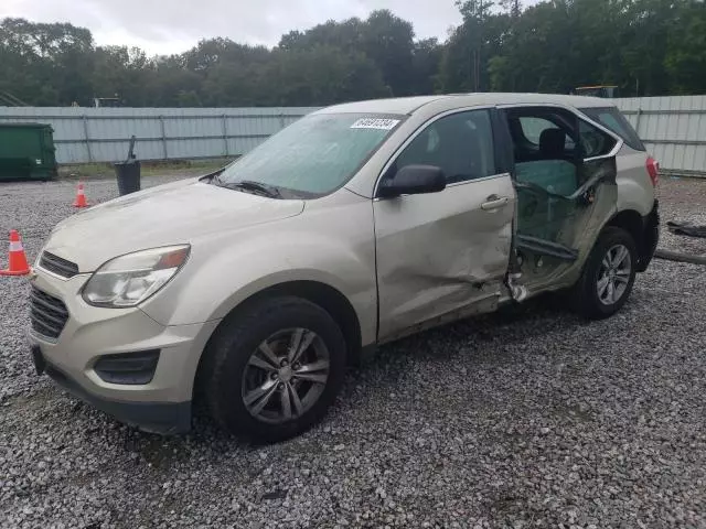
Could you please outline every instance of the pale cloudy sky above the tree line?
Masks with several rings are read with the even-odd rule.
[[[418,39],[443,41],[461,22],[454,0],[0,0],[0,19],[71,22],[88,28],[98,45],[170,54],[213,36],[274,46],[290,30],[366,18],[375,9],[411,22]]]

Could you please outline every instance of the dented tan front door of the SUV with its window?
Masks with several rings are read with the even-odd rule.
[[[436,165],[439,193],[375,199],[381,341],[460,310],[496,303],[512,246],[515,193],[498,174],[490,110],[442,116],[393,162]]]

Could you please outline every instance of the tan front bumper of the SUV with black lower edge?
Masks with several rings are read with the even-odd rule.
[[[88,274],[62,279],[36,270],[32,285],[60,299],[67,309],[57,338],[31,330],[38,370],[94,407],[146,431],[189,430],[194,378],[206,342],[218,322],[162,325],[139,307],[88,305],[81,291]],[[94,369],[105,355],[159,350],[148,384],[111,384]]]

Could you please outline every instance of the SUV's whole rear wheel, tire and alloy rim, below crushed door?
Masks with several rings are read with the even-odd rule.
[[[574,287],[577,311],[592,320],[618,312],[632,291],[637,263],[638,251],[630,234],[617,227],[606,228]]]

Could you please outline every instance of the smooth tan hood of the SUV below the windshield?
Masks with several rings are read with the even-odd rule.
[[[193,242],[224,233],[292,217],[303,201],[272,199],[188,179],[99,204],[62,220],[45,250],[93,272],[117,256]]]

